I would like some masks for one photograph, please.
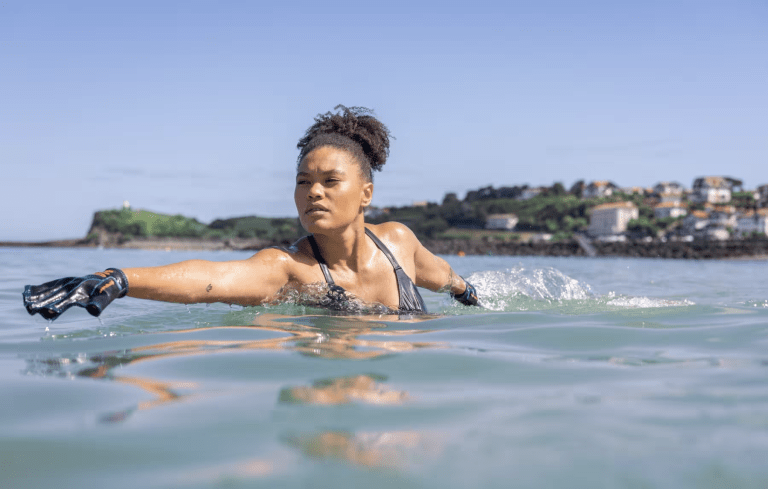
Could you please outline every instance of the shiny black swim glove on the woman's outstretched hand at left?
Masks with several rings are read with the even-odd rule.
[[[27,285],[21,294],[29,314],[56,319],[72,306],[84,307],[98,316],[115,299],[128,293],[128,278],[118,268],[85,277],[67,277],[42,285]]]

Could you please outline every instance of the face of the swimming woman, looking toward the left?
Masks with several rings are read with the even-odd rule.
[[[371,203],[373,183],[365,181],[355,158],[321,146],[301,160],[293,198],[301,225],[310,233],[341,230]]]

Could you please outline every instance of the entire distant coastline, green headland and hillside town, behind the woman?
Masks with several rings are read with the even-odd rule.
[[[441,203],[369,207],[366,221],[408,225],[442,254],[768,259],[768,184],[745,189],[725,176],[659,182],[652,188],[609,181],[550,187],[492,186]],[[258,250],[306,234],[297,217],[243,216],[210,224],[132,208],[94,213],[82,239],[0,246]]]

